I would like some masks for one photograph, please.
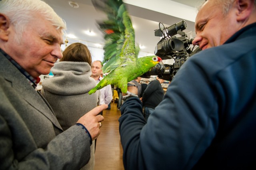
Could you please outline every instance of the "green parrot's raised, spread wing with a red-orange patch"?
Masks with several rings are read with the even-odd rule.
[[[96,9],[106,13],[108,19],[98,22],[104,33],[104,73],[118,65],[136,62],[139,48],[135,50],[134,29],[122,0],[92,0]]]

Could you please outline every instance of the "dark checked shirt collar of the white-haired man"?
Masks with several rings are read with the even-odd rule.
[[[2,49],[0,49],[0,53],[2,53],[15,67],[17,67],[17,69],[20,71],[20,73],[22,73],[27,78],[30,85],[32,85],[34,88],[36,88],[36,85],[37,85],[36,82],[38,81],[38,79],[35,79],[34,77],[32,77],[16,61],[14,61],[14,59],[12,59],[12,57],[10,57],[10,55],[6,54]]]

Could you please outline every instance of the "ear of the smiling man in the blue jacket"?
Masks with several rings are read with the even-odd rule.
[[[253,11],[254,0],[236,0],[236,20],[238,22],[245,21]]]

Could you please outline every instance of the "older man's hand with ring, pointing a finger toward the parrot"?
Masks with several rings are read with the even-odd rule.
[[[87,128],[92,140],[96,139],[100,135],[100,122],[104,121],[104,117],[98,114],[107,108],[108,105],[95,107],[77,121],[77,123],[81,123]]]

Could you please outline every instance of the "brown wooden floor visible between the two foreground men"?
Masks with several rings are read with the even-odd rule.
[[[119,135],[117,103],[111,103],[110,110],[103,111],[104,121],[97,138],[94,170],[124,170],[122,145]]]

